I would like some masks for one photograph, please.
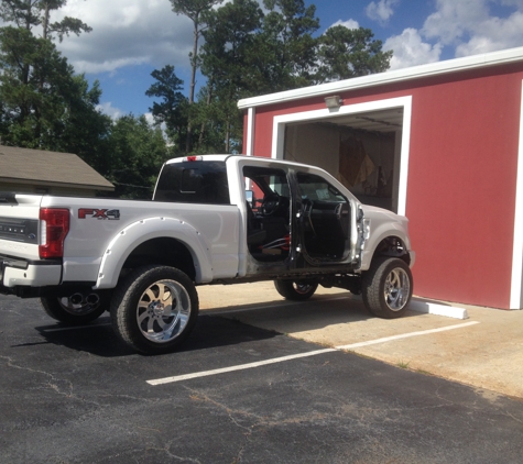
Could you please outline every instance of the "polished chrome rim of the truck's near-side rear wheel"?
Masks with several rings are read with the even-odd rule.
[[[175,280],[152,284],[140,297],[137,322],[143,336],[165,343],[183,333],[190,316],[187,290]]]

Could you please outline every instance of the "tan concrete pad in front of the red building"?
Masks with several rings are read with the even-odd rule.
[[[383,320],[371,317],[360,297],[340,289],[319,288],[305,302],[284,300],[272,283],[199,287],[198,294],[203,313],[222,314],[329,347],[392,338],[350,351],[523,398],[523,311],[414,299],[405,317]],[[454,328],[460,323],[464,327]],[[445,328],[453,330],[433,331]],[[432,332],[395,338],[424,331]]]

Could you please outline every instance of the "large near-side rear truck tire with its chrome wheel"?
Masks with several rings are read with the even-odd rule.
[[[143,266],[123,279],[111,302],[112,327],[133,350],[161,354],[181,344],[198,318],[198,295],[182,270]]]

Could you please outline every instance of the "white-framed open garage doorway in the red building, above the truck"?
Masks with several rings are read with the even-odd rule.
[[[277,117],[273,157],[319,166],[361,202],[404,214],[410,125],[408,97]]]

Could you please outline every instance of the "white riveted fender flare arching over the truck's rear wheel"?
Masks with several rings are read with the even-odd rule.
[[[213,280],[213,258],[204,236],[189,223],[174,218],[148,218],[122,229],[109,243],[101,258],[98,278],[94,288],[115,288],[129,255],[142,243],[170,237],[182,242],[195,266],[196,283]]]

